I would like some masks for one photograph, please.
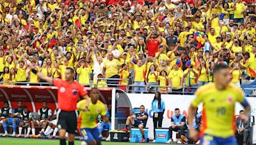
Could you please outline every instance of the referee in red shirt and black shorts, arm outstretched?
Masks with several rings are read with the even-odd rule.
[[[75,131],[77,128],[77,101],[80,96],[86,99],[86,105],[83,107],[83,111],[87,111],[90,104],[90,98],[87,95],[87,91],[84,86],[74,81],[75,71],[72,67],[67,67],[65,70],[65,81],[62,79],[52,79],[45,76],[41,72],[36,71],[31,65],[29,65],[31,71],[36,74],[40,79],[47,81],[48,83],[58,86],[58,113],[57,120],[60,134],[60,144],[66,144],[65,134],[68,132],[68,144],[73,145],[75,141]]]

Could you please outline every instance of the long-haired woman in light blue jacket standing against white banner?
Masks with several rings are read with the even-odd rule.
[[[165,111],[164,100],[161,99],[161,93],[156,92],[155,97],[151,103],[151,109],[153,110],[153,123],[154,123],[154,139],[156,137],[156,128],[162,127],[163,114]],[[158,125],[157,125],[158,123]],[[154,142],[154,141],[153,141]]]

